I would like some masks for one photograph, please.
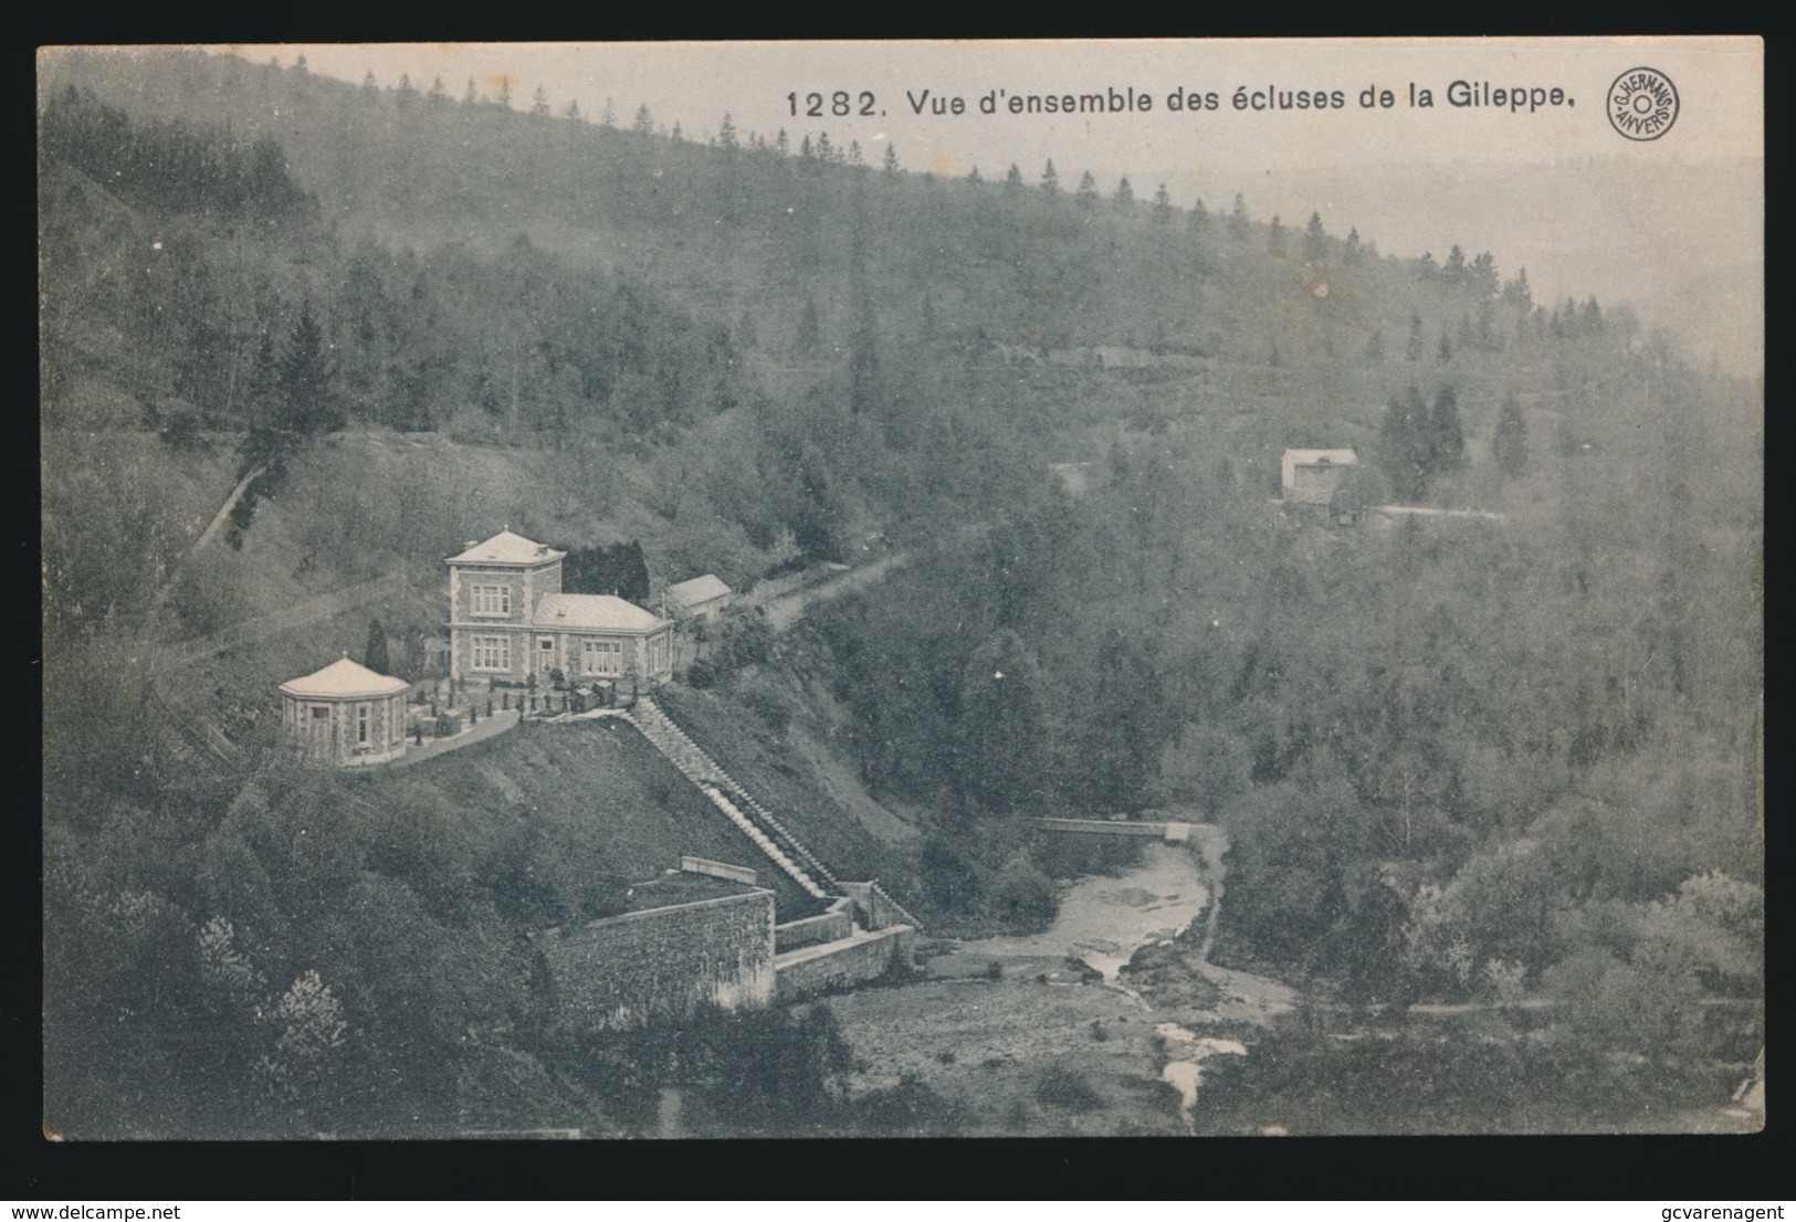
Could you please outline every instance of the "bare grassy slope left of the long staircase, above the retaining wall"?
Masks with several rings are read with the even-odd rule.
[[[621,721],[523,725],[413,768],[372,773],[366,791],[375,807],[409,807],[429,818],[535,822],[555,847],[557,868],[652,879],[693,854],[754,868],[774,890],[781,921],[815,910]]]

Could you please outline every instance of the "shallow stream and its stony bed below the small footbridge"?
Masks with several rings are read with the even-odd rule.
[[[1225,851],[1214,825],[1146,845],[1074,881],[1043,933],[950,944],[914,983],[832,998],[853,1089],[918,1082],[966,1136],[1191,1132],[1198,1062],[1252,1055],[1243,1028],[1295,999],[1207,962]]]

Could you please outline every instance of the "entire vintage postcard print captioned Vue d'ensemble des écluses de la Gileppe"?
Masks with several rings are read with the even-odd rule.
[[[1764,1127],[1760,39],[36,66],[47,1138]]]

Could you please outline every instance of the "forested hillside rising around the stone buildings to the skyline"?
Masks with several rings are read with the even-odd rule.
[[[718,694],[785,700],[765,668],[830,694],[867,788],[920,813],[948,928],[1052,910],[1029,816],[1189,804],[1236,843],[1218,958],[1360,999],[1546,994],[1552,1055],[1704,1089],[1762,1039],[1706,1005],[1764,987],[1762,386],[1600,285],[1534,301],[1476,233],[1397,258],[1376,242],[1401,235],[1241,197],[948,179],[821,129],[681,138],[187,52],[45,63],[47,912],[88,940],[50,989],[90,1034],[57,1055],[102,1066],[70,1107],[203,1127],[144,1104],[144,1066],[180,1093],[208,1071],[183,1023],[305,958],[280,942],[304,913],[205,881],[219,829],[257,827],[228,868],[275,908],[365,856],[298,847],[327,782],[160,775],[128,659],[402,562],[431,585],[501,520],[639,540],[657,589],[907,549]],[[1498,517],[1288,524],[1281,452],[1345,445],[1370,504]],[[275,1068],[233,1035],[242,1091],[435,1061],[420,1107],[603,1111],[503,989],[476,1055],[313,982],[264,1032]]]

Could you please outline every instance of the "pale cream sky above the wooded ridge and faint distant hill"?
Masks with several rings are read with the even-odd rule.
[[[828,131],[882,151],[889,140],[909,169],[988,178],[1009,161],[1040,172],[1052,156],[1061,172],[1112,178],[1162,172],[1189,179],[1228,167],[1255,172],[1290,165],[1354,165],[1401,158],[1537,161],[1631,156],[1643,165],[1762,154],[1762,50],[1756,39],[1360,39],[1360,41],[885,41],[885,43],[415,43],[248,47],[259,59],[305,54],[316,72],[381,84],[409,74],[418,88],[442,77],[460,97],[469,77],[489,93],[512,79],[514,104],[541,84],[560,111],[571,99],[596,118],[612,99],[627,124],[647,102],[657,124],[679,120],[706,138],[729,111],[747,131]],[[1649,65],[1677,86],[1679,115],[1660,140],[1633,142],[1604,117],[1604,95],[1624,70]],[[1431,88],[1433,109],[1406,104],[1408,83]],[[1572,102],[1534,113],[1453,108],[1451,81],[1563,88]],[[1342,90],[1343,109],[1237,111],[1248,90]],[[1395,106],[1361,109],[1369,84],[1390,88]],[[990,90],[1017,93],[1146,92],[1148,113],[977,113]],[[1169,111],[1166,97],[1216,92],[1221,109]],[[788,93],[846,90],[848,117],[794,117]],[[860,92],[875,115],[860,115]],[[966,99],[966,115],[918,115],[912,99]],[[1158,179],[1157,179],[1158,181]]]

